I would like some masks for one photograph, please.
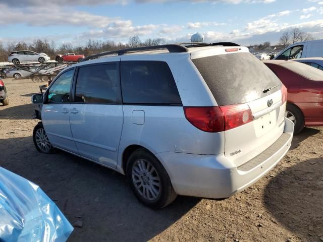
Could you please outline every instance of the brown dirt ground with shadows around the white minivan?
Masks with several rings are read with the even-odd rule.
[[[69,241],[323,241],[323,128],[305,128],[275,169],[240,194],[179,196],[154,211],[123,175],[65,152],[38,153],[30,97],[40,84],[4,82],[10,105],[0,104],[0,166],[39,185],[72,224],[82,222]]]

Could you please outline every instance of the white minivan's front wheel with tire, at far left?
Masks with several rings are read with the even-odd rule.
[[[32,139],[36,149],[40,153],[50,154],[55,150],[50,144],[48,137],[46,135],[45,129],[41,122],[39,122],[32,133]]]

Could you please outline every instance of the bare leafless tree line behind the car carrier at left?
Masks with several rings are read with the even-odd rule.
[[[50,56],[50,59],[55,59],[57,54],[65,54],[70,52],[89,56],[91,54],[97,54],[104,51],[152,46],[166,43],[166,40],[163,38],[148,38],[145,41],[141,41],[138,36],[131,36],[128,43],[115,42],[113,40],[102,41],[89,39],[84,45],[74,46],[71,43],[63,43],[59,47],[57,47],[54,41],[48,41],[47,39],[35,39],[32,43],[26,43],[24,41],[19,41],[18,43],[12,42],[6,46],[0,41],[0,62],[7,62],[8,55],[12,51],[16,50],[31,50],[37,53],[43,52]]]

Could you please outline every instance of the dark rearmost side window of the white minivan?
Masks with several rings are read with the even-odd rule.
[[[181,105],[172,72],[165,62],[121,62],[124,103]]]

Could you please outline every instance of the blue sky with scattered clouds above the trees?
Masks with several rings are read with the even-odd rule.
[[[91,39],[127,42],[165,38],[276,44],[299,27],[323,38],[323,0],[0,0],[0,41],[35,38],[82,44]]]

